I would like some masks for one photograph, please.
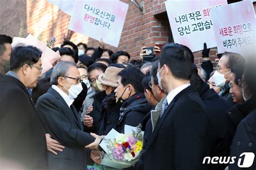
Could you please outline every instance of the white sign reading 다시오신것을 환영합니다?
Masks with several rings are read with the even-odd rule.
[[[120,1],[76,1],[69,29],[118,47],[129,5]]]

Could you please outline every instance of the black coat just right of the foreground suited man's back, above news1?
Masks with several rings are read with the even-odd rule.
[[[200,96],[207,107],[208,117],[212,124],[211,157],[228,157],[235,128],[227,111],[232,107],[205,83]],[[227,164],[211,164],[212,170],[224,170]]]

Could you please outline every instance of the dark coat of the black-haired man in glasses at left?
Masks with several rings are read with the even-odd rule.
[[[0,169],[48,169],[45,135],[28,90],[11,76],[0,79],[0,89]]]

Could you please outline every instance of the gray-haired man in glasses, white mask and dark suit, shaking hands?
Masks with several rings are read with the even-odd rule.
[[[36,104],[45,133],[65,148],[58,155],[48,152],[50,169],[85,169],[84,147],[97,148],[100,138],[83,132],[83,124],[72,105],[82,91],[76,64],[59,62],[51,75],[52,87]],[[91,145],[89,145],[91,144]]]

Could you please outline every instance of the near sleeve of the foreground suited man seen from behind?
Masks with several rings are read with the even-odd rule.
[[[191,100],[184,101],[178,108],[173,113],[172,127],[174,169],[201,169],[207,139],[207,113]]]

